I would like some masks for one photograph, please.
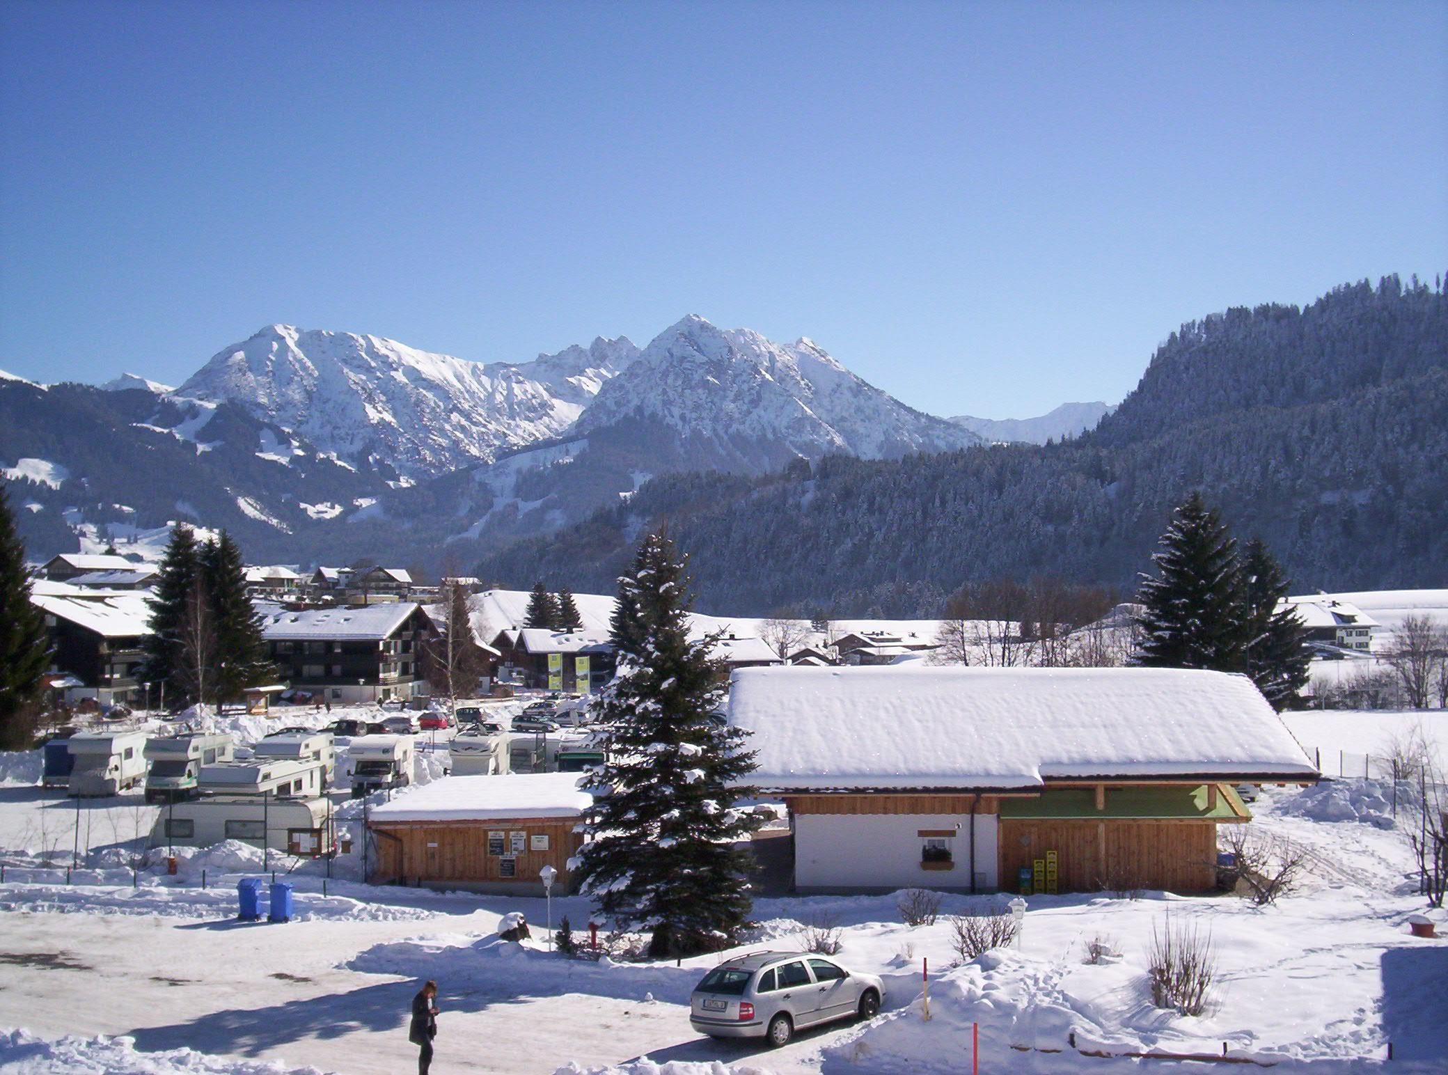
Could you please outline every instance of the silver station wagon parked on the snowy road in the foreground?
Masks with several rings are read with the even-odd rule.
[[[689,1026],[710,1037],[765,1037],[788,1045],[796,1030],[838,1018],[873,1018],[885,985],[808,952],[753,952],[720,963],[694,987]]]

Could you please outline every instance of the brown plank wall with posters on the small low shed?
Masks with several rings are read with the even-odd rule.
[[[557,887],[560,891],[572,891],[572,879],[568,872],[568,859],[584,846],[581,833],[573,832],[576,819],[572,817],[534,817],[511,819],[507,821],[395,821],[392,824],[376,824],[378,866],[374,878],[378,881],[392,881],[405,878],[408,881],[421,878],[423,881],[471,881],[471,882],[501,882],[517,879],[529,885],[539,884],[539,871],[544,863],[552,863],[557,871]],[[514,855],[517,863],[515,878],[505,878],[500,872],[501,856],[488,853],[489,832],[524,832],[526,850]],[[547,850],[533,850],[533,836],[546,835],[549,837]],[[388,839],[395,836],[397,839]],[[507,840],[507,837],[504,837]],[[436,846],[429,846],[436,845]],[[507,843],[504,848],[507,849]]]

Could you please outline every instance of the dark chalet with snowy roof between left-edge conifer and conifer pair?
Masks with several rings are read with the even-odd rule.
[[[48,588],[74,593],[43,593]],[[55,649],[51,671],[62,675],[67,704],[87,698],[100,706],[145,704],[140,669],[151,633],[149,598],[145,591],[35,585],[30,603],[45,616]]]

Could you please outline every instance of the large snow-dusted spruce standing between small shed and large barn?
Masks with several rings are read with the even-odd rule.
[[[683,571],[673,542],[649,535],[618,580],[618,674],[595,703],[608,761],[584,784],[584,891],[620,927],[650,930],[652,956],[723,948],[750,908],[750,859],[733,845],[753,826],[731,803],[753,753],[712,719],[725,688],[714,639],[689,640]]]

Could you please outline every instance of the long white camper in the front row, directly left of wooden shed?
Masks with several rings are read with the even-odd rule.
[[[151,830],[152,846],[210,848],[240,840],[288,855],[326,855],[334,848],[332,803],[324,797],[211,795],[174,803]]]

